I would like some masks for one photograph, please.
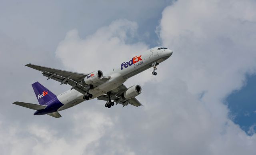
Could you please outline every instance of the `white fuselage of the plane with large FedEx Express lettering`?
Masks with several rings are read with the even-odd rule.
[[[93,95],[94,99],[101,96],[116,87],[122,85],[128,78],[135,76],[136,74],[147,70],[152,67],[152,64],[160,64],[172,55],[172,50],[160,49],[158,47],[152,48],[141,55],[135,56],[133,59],[127,60],[126,62],[120,64],[118,68],[115,68],[107,74],[110,78],[101,85],[94,87],[89,90],[89,93]],[[84,101],[84,94],[76,91],[75,89],[65,91],[57,96],[58,100],[64,104],[58,109],[58,111],[67,109],[74,105],[77,105]]]

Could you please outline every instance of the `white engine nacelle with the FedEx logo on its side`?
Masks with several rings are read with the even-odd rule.
[[[97,83],[102,78],[103,78],[103,73],[100,70],[98,70],[98,71],[92,72],[88,76],[86,76],[82,80],[82,83],[84,85],[90,85],[90,84],[93,84],[93,83]]]

